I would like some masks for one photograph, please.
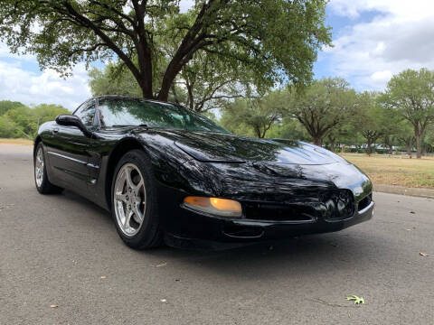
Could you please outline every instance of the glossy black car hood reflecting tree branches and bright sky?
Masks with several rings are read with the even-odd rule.
[[[209,132],[175,131],[175,145],[205,163],[288,163],[323,165],[343,162],[321,147],[288,140],[263,140]]]

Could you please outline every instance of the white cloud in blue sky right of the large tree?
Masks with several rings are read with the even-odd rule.
[[[332,0],[334,14],[354,19],[373,13],[368,23],[354,23],[324,51],[333,74],[352,79],[354,87],[382,89],[405,69],[434,69],[434,1]]]

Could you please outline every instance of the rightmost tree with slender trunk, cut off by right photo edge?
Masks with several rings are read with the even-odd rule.
[[[417,158],[427,126],[434,123],[434,71],[404,70],[387,84],[385,103],[413,126]]]

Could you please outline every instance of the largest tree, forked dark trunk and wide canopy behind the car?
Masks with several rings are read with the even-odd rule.
[[[42,68],[63,75],[79,61],[116,57],[144,98],[166,100],[176,76],[199,52],[215,54],[228,68],[241,64],[256,84],[304,84],[316,51],[331,42],[325,3],[196,0],[193,9],[180,13],[179,0],[3,0],[0,38],[12,51],[34,53]],[[180,39],[171,57],[163,55],[160,35]]]

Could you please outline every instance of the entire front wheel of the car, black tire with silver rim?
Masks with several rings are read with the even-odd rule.
[[[111,186],[111,214],[119,237],[127,246],[160,246],[162,231],[157,213],[152,166],[140,150],[126,153],[118,162]]]

